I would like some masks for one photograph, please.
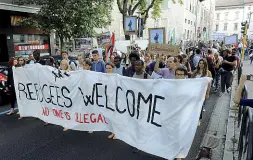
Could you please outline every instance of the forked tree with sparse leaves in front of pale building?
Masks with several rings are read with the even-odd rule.
[[[143,18],[143,25],[147,23],[147,19],[149,18],[149,12],[152,11],[152,18],[157,19],[161,14],[161,3],[163,0],[151,0],[150,4],[147,4],[147,0],[117,0],[117,5],[120,13],[123,18],[123,28],[125,29],[125,17],[133,16],[138,10],[141,18]],[[172,0],[173,3],[176,3],[176,0]],[[182,0],[177,0],[178,3],[182,4]],[[130,37],[125,35],[125,39],[129,40]]]

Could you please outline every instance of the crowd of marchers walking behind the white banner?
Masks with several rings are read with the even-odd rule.
[[[11,93],[11,110],[7,115],[14,114],[16,94],[13,80],[13,67],[24,67],[25,65],[39,63],[56,67],[64,71],[89,70],[107,74],[119,74],[122,76],[138,79],[187,79],[211,77],[213,81],[209,84],[205,99],[209,98],[210,90],[215,92],[221,89],[220,96],[225,92],[230,93],[233,79],[233,72],[239,67],[240,58],[237,56],[236,49],[205,51],[198,48],[188,48],[185,54],[178,56],[153,55],[147,51],[134,50],[129,55],[119,56],[117,52],[113,53],[108,59],[100,59],[97,50],[92,51],[92,58],[84,58],[79,55],[77,61],[69,60],[68,52],[61,52],[61,61],[55,61],[53,57],[42,59],[40,51],[35,50],[29,55],[28,60],[24,58],[14,58],[9,60],[7,90]],[[128,64],[127,61],[130,63]],[[205,104],[205,103],[204,103]],[[205,111],[204,104],[200,115]],[[19,117],[22,119],[22,117]],[[64,131],[67,131],[64,128]],[[93,133],[93,132],[89,132]],[[110,139],[116,139],[112,133],[108,136]],[[181,157],[178,157],[181,158]]]

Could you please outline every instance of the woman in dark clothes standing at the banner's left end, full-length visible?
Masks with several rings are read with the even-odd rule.
[[[7,113],[7,115],[14,114],[14,108],[16,103],[16,93],[15,93],[15,87],[14,87],[14,77],[13,77],[13,70],[12,67],[17,65],[17,59],[12,57],[9,60],[9,68],[8,68],[8,78],[7,78],[7,90],[10,93],[10,101],[11,101],[11,111]]]

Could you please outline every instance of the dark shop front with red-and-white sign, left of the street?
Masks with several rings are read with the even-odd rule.
[[[10,57],[28,57],[34,50],[50,55],[50,35],[36,28],[26,28],[19,22],[29,13],[0,10],[0,64]]]

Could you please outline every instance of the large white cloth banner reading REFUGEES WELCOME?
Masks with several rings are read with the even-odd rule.
[[[210,81],[63,73],[39,64],[14,69],[14,79],[22,117],[72,130],[110,131],[131,146],[170,160],[187,156]]]

